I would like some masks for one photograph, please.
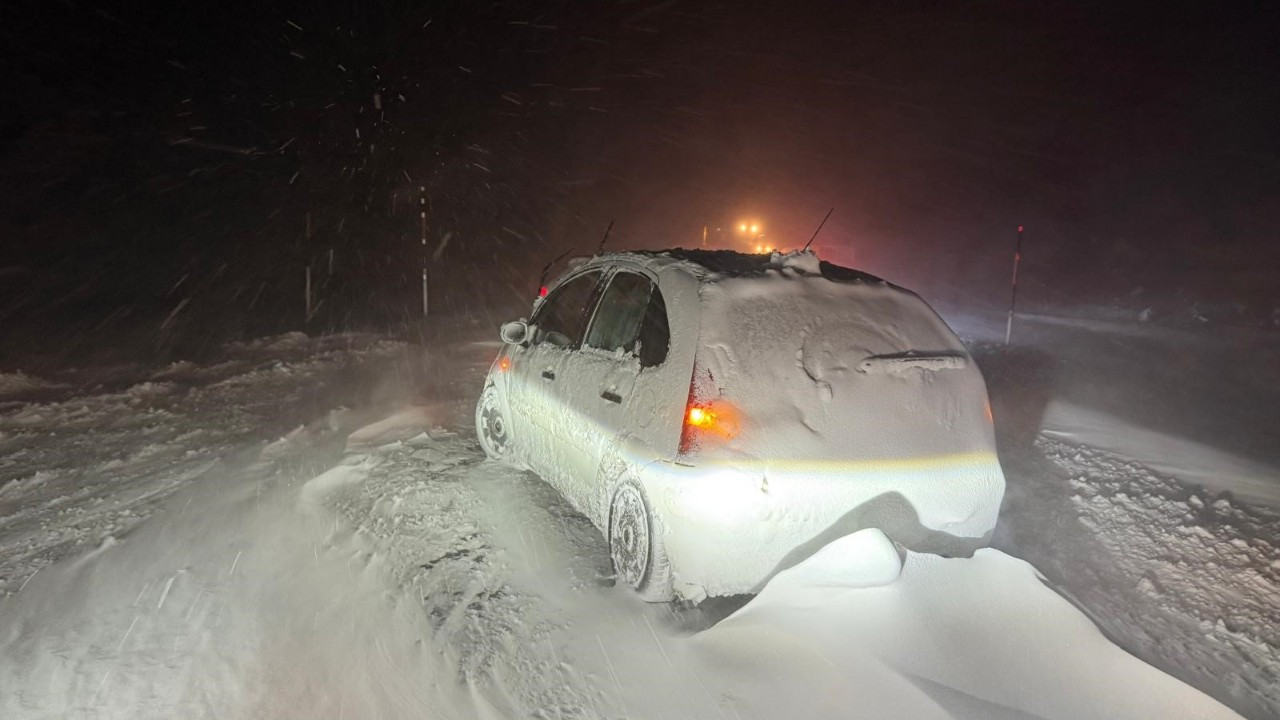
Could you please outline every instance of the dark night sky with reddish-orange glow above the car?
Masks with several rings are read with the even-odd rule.
[[[787,245],[831,208],[824,255],[925,297],[1004,301],[1021,223],[1030,302],[1280,304],[1265,4],[95,8],[0,9],[9,337],[297,328],[308,264],[314,329],[388,325],[419,186],[444,311],[524,300],[609,220]]]

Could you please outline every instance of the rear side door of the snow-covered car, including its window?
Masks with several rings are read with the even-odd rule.
[[[666,354],[666,311],[660,295],[646,275],[620,269],[608,279],[600,302],[588,325],[570,380],[561,387],[564,402],[577,409],[582,421],[566,428],[570,475],[576,503],[598,500],[600,461],[618,438],[632,429],[636,383],[658,352]],[[654,313],[657,301],[658,314]],[[648,333],[645,329],[648,328]],[[648,340],[648,338],[659,338]],[[660,359],[657,360],[660,363]],[[584,510],[599,510],[584,507]]]

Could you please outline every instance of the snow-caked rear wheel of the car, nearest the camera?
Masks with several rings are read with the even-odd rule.
[[[622,482],[609,502],[609,559],[620,583],[635,588],[646,602],[672,600],[671,564],[644,489]]]

